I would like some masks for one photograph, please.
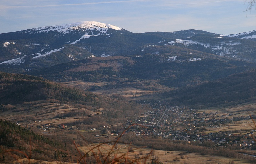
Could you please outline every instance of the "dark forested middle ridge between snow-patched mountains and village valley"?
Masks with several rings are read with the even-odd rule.
[[[253,68],[253,64],[246,61],[176,46],[149,46],[133,53],[126,57],[95,57],[74,61],[30,73],[57,82],[104,82],[103,86],[95,84],[93,88],[87,88],[91,91],[128,85],[154,91],[163,87],[197,85]]]

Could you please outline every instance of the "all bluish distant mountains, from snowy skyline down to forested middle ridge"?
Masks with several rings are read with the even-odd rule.
[[[170,90],[246,72],[255,68],[256,62],[256,30],[232,35],[199,30],[137,34],[85,21],[3,33],[0,42],[1,71],[56,82],[103,82],[83,88],[94,92],[112,93],[114,88],[125,90],[122,88],[128,86],[150,92],[164,90],[154,99],[175,102],[185,99],[175,93],[185,92]]]

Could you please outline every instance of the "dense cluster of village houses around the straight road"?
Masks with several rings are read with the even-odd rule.
[[[127,122],[126,126],[133,125],[129,131],[133,131],[137,136],[155,136],[162,139],[187,141],[188,143],[212,142],[215,145],[232,144],[243,148],[250,148],[255,145],[255,141],[252,139],[253,131],[246,135],[225,132],[205,134],[205,128],[218,128],[221,124],[231,123],[233,121],[231,117],[224,117],[233,116],[232,113],[219,117],[217,112],[198,112],[184,107],[168,106],[165,102],[162,102],[161,105],[164,108],[142,113],[142,117],[139,119]],[[246,120],[250,117],[243,117],[242,119]]]

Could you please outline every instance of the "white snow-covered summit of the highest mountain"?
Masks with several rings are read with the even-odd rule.
[[[57,31],[65,34],[70,31],[80,30],[80,29],[85,29],[85,30],[97,29],[99,31],[101,30],[106,31],[106,29],[122,30],[122,28],[111,25],[111,24],[106,24],[106,23],[101,23],[96,21],[83,21],[83,22],[76,22],[71,24],[34,28],[34,29],[27,30],[26,33],[30,33],[30,32],[47,33],[50,31]]]

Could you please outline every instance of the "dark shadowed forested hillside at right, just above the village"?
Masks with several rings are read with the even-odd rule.
[[[256,71],[253,69],[201,85],[165,92],[162,96],[171,103],[188,105],[193,108],[254,103],[256,100],[255,80]]]

